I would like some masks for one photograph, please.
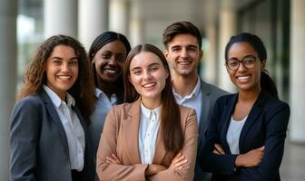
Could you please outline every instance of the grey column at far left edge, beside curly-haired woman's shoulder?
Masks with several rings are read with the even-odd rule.
[[[0,1],[0,180],[9,180],[9,118],[15,103],[17,1]]]

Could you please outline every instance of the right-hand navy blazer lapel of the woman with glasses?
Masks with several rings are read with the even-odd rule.
[[[255,119],[261,114],[261,104],[265,100],[266,96],[265,94],[261,91],[261,94],[259,98],[255,101],[253,104],[253,107],[248,115],[248,118],[246,119],[246,122],[244,123],[244,126],[241,129],[241,136],[240,136],[240,151],[242,153],[242,146],[243,142],[245,141],[246,134],[248,133],[249,129],[251,128],[252,124],[255,122]]]

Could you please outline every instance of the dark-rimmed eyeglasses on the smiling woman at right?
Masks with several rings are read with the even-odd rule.
[[[225,62],[225,65],[230,71],[237,71],[241,63],[246,69],[252,69],[254,67],[255,61],[255,56],[247,55],[241,60],[238,60],[237,58],[231,58]]]

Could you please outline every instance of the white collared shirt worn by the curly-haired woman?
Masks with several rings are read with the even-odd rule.
[[[71,106],[75,105],[74,98],[66,93],[66,102],[44,85],[44,90],[54,103],[59,119],[64,126],[65,135],[68,142],[71,169],[82,171],[84,167],[84,129]]]

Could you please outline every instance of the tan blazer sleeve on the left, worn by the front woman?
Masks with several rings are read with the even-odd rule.
[[[99,148],[96,156],[96,172],[99,179],[102,180],[145,180],[145,169],[147,165],[137,164],[133,166],[124,166],[106,163],[105,157],[116,154],[116,129],[119,127],[119,121],[115,115],[114,108],[108,113],[103,133],[101,136]]]

